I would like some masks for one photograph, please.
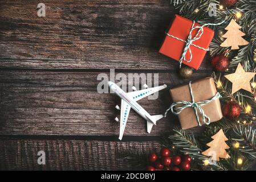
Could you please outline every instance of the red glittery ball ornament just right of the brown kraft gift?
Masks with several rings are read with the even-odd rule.
[[[241,114],[241,106],[235,101],[226,102],[223,106],[223,113],[229,119],[238,118]]]

